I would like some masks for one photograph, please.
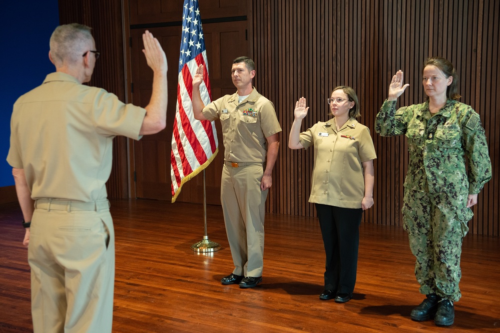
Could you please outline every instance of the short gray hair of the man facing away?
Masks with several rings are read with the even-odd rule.
[[[59,25],[54,30],[50,47],[56,67],[79,61],[93,40],[91,30],[91,27],[79,23]]]

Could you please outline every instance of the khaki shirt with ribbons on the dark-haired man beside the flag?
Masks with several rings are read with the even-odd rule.
[[[205,106],[203,115],[221,120],[227,162],[265,162],[266,138],[281,132],[273,103],[255,87],[241,103],[237,92],[213,101]]]

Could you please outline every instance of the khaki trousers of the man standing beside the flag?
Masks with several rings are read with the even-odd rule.
[[[233,257],[233,274],[262,276],[267,193],[260,189],[262,164],[222,169],[221,202]]]

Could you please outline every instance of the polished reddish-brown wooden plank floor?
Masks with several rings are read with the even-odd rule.
[[[423,296],[398,227],[361,225],[358,277],[346,304],[321,301],[324,252],[312,218],[266,216],[263,282],[223,286],[232,259],[220,206],[207,207],[214,253],[193,252],[203,206],[112,201],[116,231],[113,332],[500,332],[500,240],[467,235],[455,324],[413,322]],[[30,268],[16,204],[0,205],[0,332],[31,332]]]

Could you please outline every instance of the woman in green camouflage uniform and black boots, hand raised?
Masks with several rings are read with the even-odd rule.
[[[410,317],[415,321],[434,317],[436,325],[449,326],[454,320],[453,302],[461,296],[460,253],[473,215],[470,207],[491,178],[491,161],[479,115],[458,102],[453,65],[441,57],[426,59],[422,84],[427,100],[396,111],[397,97],[409,86],[403,85],[399,70],[376,116],[375,130],[382,136],[404,134],[408,139],[403,227],[416,257],[420,293],[426,295]]]

